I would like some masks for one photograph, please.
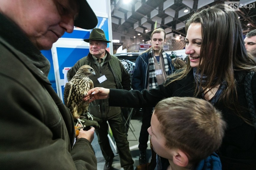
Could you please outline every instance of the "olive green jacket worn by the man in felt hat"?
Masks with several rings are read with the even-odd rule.
[[[86,57],[78,60],[77,63],[75,63],[75,65],[68,71],[67,79],[70,81],[81,66],[89,65],[96,73],[95,76],[89,76],[93,81],[94,87],[130,90],[130,74],[126,71],[123,64],[116,56],[110,55],[106,50],[105,52],[107,56],[100,68],[96,63],[96,60],[93,59],[92,54],[89,53]],[[100,83],[98,78],[102,75],[105,75],[106,80]],[[111,119],[113,116],[121,113],[120,107],[108,106],[108,99],[95,100],[91,102],[88,110],[93,116],[105,120]]]

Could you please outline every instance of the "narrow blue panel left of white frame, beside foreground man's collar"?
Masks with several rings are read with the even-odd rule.
[[[52,84],[53,89],[57,93],[57,87],[56,87],[56,80],[54,75],[54,68],[53,68],[53,57],[52,57],[52,51],[51,50],[42,50],[41,53],[50,61],[50,72],[48,74],[48,79],[50,80],[50,83]]]

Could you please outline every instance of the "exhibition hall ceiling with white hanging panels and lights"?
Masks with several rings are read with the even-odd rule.
[[[227,1],[227,0],[226,0]],[[223,0],[111,0],[112,32],[150,40],[155,28],[166,34],[185,36],[185,21],[200,7],[224,3]],[[231,1],[230,1],[231,2]],[[244,33],[256,29],[256,1],[241,0],[237,11]],[[184,13],[184,10],[188,10]],[[148,30],[148,31],[146,31]],[[140,35],[138,35],[140,34]]]

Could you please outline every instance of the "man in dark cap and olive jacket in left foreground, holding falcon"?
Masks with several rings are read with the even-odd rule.
[[[97,22],[86,0],[0,1],[1,169],[97,169],[94,128],[81,129],[75,142],[74,120],[40,52],[74,23],[92,29]]]

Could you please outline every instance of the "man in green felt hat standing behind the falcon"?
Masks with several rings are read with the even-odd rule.
[[[89,42],[90,53],[78,60],[68,71],[68,80],[70,81],[72,79],[81,66],[89,65],[96,73],[95,76],[89,76],[95,87],[130,90],[130,75],[121,61],[117,57],[110,55],[106,50],[107,43],[111,41],[106,39],[104,31],[94,28],[90,33],[90,37],[84,39],[84,41]],[[105,158],[104,170],[112,168],[114,158],[114,153],[108,140],[108,124],[117,145],[121,167],[124,170],[133,170],[134,161],[130,153],[121,108],[109,107],[108,99],[95,100],[90,103],[89,112],[92,113],[93,119],[97,120],[100,125],[99,130],[95,131],[98,136],[102,155]]]

